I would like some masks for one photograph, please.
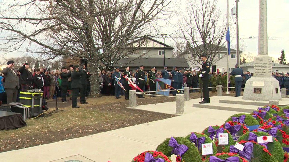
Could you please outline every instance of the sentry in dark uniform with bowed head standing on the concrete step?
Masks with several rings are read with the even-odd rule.
[[[203,61],[202,74],[200,74],[199,77],[201,78],[201,80],[203,82],[204,99],[200,103],[210,103],[208,86],[209,86],[209,79],[210,79],[209,72],[210,72],[211,64],[209,63],[209,61],[207,59],[207,55],[205,55],[205,54],[201,55],[201,60]]]

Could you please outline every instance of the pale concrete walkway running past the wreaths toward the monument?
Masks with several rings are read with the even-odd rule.
[[[197,99],[200,101],[200,99]],[[196,101],[197,101],[196,100]],[[195,101],[195,102],[196,102]],[[192,106],[192,101],[186,101]],[[167,109],[173,108],[174,103]],[[151,105],[147,105],[150,107]],[[164,105],[163,105],[164,106]],[[188,106],[189,107],[189,106]],[[187,106],[186,106],[187,108]],[[234,111],[188,108],[187,114],[151,123],[117,129],[86,137],[0,153],[1,162],[128,162],[138,153],[155,150],[171,136],[201,132],[209,125],[221,125]],[[159,110],[160,112],[161,110]]]

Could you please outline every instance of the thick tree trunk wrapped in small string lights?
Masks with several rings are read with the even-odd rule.
[[[95,59],[88,59],[89,73],[92,74],[89,78],[90,82],[90,97],[101,97],[99,76],[98,76],[98,62]]]

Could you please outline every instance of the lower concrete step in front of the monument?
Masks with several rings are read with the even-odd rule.
[[[238,104],[229,104],[229,103],[205,103],[205,104],[194,103],[193,107],[215,109],[215,110],[247,112],[247,113],[251,113],[254,110],[258,109],[258,106],[238,105]]]

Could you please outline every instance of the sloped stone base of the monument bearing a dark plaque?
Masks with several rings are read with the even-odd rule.
[[[280,100],[279,82],[274,77],[251,77],[246,81],[242,99],[256,101]]]

